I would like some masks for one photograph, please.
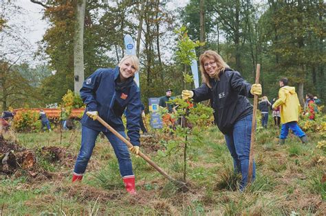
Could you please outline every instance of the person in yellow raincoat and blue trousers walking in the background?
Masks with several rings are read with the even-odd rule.
[[[303,143],[307,143],[307,136],[305,132],[298,126],[298,115],[301,110],[298,95],[296,95],[296,88],[287,86],[288,80],[286,77],[281,78],[279,85],[279,99],[275,101],[272,108],[281,107],[281,134],[279,136],[279,143],[283,145],[289,129],[291,129],[296,136],[298,136]]]

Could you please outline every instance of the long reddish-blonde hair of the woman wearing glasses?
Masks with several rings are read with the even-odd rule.
[[[206,60],[208,58],[215,60],[215,64],[217,67],[217,71],[213,75],[213,77],[210,77],[210,75],[208,75],[208,73],[206,73],[206,70],[204,68],[204,60]],[[199,56],[199,70],[200,70],[200,72],[202,72],[202,80],[203,80],[203,82],[205,82],[205,84],[209,88],[212,88],[212,86],[210,86],[209,79],[215,78],[216,80],[219,80],[220,73],[223,73],[224,70],[226,69],[226,67],[229,68],[228,64],[226,64],[226,62],[224,62],[223,58],[221,58],[221,56],[219,56],[219,54],[217,54],[216,51],[207,50],[207,51],[204,51],[204,53],[202,53],[202,55]]]

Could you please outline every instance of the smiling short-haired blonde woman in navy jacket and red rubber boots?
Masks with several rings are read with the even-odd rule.
[[[96,119],[98,116],[101,117],[125,137],[122,114],[127,109],[128,136],[133,144],[129,150],[133,154],[139,154],[139,123],[142,102],[140,101],[140,89],[133,80],[138,68],[139,60],[136,56],[124,56],[115,69],[98,69],[84,81],[83,87],[80,89],[80,97],[87,107],[80,121],[82,124],[81,146],[72,182],[83,179],[96,138],[102,132],[107,136],[118,158],[124,187],[129,194],[136,193],[135,175],[127,145]]]

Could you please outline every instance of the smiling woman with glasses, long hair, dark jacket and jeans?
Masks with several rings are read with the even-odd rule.
[[[215,51],[202,53],[199,63],[203,84],[191,91],[182,91],[182,98],[193,98],[195,102],[210,99],[215,123],[225,136],[235,173],[241,173],[240,190],[243,191],[248,180],[252,128],[252,105],[246,97],[261,95],[261,84],[243,80]],[[252,180],[255,178],[255,164],[253,166]]]

